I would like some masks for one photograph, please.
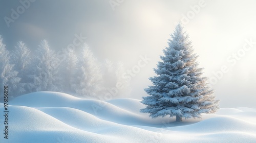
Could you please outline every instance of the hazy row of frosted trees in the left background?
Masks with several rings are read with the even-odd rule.
[[[8,85],[12,97],[36,91],[97,97],[106,94],[117,82],[123,82],[123,89],[114,96],[130,92],[129,83],[121,78],[124,73],[121,63],[105,60],[101,64],[86,43],[77,48],[78,52],[69,49],[61,60],[46,40],[33,53],[22,41],[8,51],[0,35],[1,87]]]

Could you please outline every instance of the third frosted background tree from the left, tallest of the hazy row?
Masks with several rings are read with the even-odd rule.
[[[32,91],[61,91],[59,59],[49,48],[48,42],[42,40],[36,51],[34,68],[30,78],[33,80]]]

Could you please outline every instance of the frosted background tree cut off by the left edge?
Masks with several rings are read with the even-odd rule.
[[[18,72],[13,69],[14,64],[10,63],[10,52],[6,50],[6,45],[0,35],[0,93],[3,93],[3,87],[8,86],[9,97],[17,96],[15,91],[23,91],[20,88],[20,78],[17,77]]]

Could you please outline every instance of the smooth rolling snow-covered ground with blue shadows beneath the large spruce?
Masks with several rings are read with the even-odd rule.
[[[9,104],[9,139],[1,133],[0,142],[256,142],[256,109],[246,107],[176,123],[140,113],[144,106],[135,99],[103,102],[34,92]],[[1,130],[3,121],[1,116]]]

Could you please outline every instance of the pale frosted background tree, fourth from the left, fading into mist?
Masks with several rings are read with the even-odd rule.
[[[102,90],[100,64],[93,56],[87,43],[84,43],[82,46],[76,75],[77,80],[76,83],[73,84],[73,87],[79,96],[96,97]]]

